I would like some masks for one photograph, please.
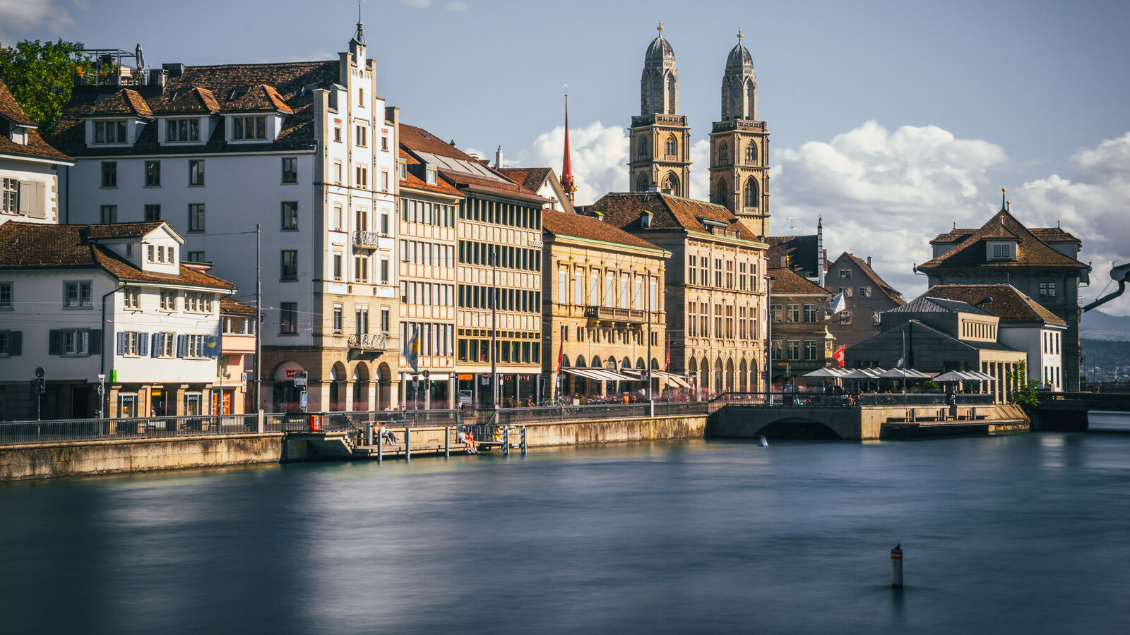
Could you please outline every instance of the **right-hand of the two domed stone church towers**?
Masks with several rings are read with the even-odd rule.
[[[754,60],[741,45],[730,51],[722,76],[722,121],[710,136],[710,201],[725,206],[758,236],[768,235],[770,133],[757,121]]]

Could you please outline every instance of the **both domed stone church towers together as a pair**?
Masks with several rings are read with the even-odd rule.
[[[659,32],[643,62],[640,116],[632,118],[628,186],[689,198],[690,127],[678,114],[675,51],[663,38],[662,24]],[[739,31],[722,76],[722,119],[710,136],[710,201],[730,209],[759,236],[768,232],[768,143],[767,127],[757,121],[754,61]]]

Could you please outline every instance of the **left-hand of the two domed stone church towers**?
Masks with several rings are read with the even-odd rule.
[[[647,47],[640,78],[640,116],[628,132],[628,189],[633,192],[669,190],[689,197],[690,128],[679,113],[679,72],[675,51],[659,36]]]

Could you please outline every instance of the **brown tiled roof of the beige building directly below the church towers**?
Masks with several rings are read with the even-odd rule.
[[[699,220],[699,218],[705,218],[724,224],[727,228],[738,232],[742,240],[757,241],[757,236],[742,225],[729,209],[671,194],[658,192],[609,193],[591,206],[579,208],[577,211],[582,212],[582,209],[590,215],[599,211],[605,215],[605,223],[629,233],[683,229],[709,234],[710,230]],[[640,226],[640,214],[643,211],[651,211],[653,215],[649,228]]]

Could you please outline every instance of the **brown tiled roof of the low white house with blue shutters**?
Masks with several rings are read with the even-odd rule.
[[[148,273],[97,244],[98,238],[140,237],[160,225],[162,223],[44,225],[8,221],[0,225],[0,269],[96,268],[122,281],[175,282],[235,289],[235,286],[226,280],[188,267],[180,267],[177,276]]]

